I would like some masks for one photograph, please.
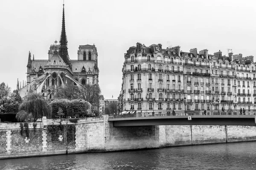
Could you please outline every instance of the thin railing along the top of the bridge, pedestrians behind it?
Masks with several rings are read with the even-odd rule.
[[[192,115],[256,115],[256,110],[198,110],[198,111],[186,111],[186,116]],[[110,115],[112,118],[130,118],[130,117],[151,117],[151,116],[185,116],[185,112],[172,113],[172,111],[161,112],[160,114],[155,112],[151,114],[133,113],[133,114],[114,114]]]

